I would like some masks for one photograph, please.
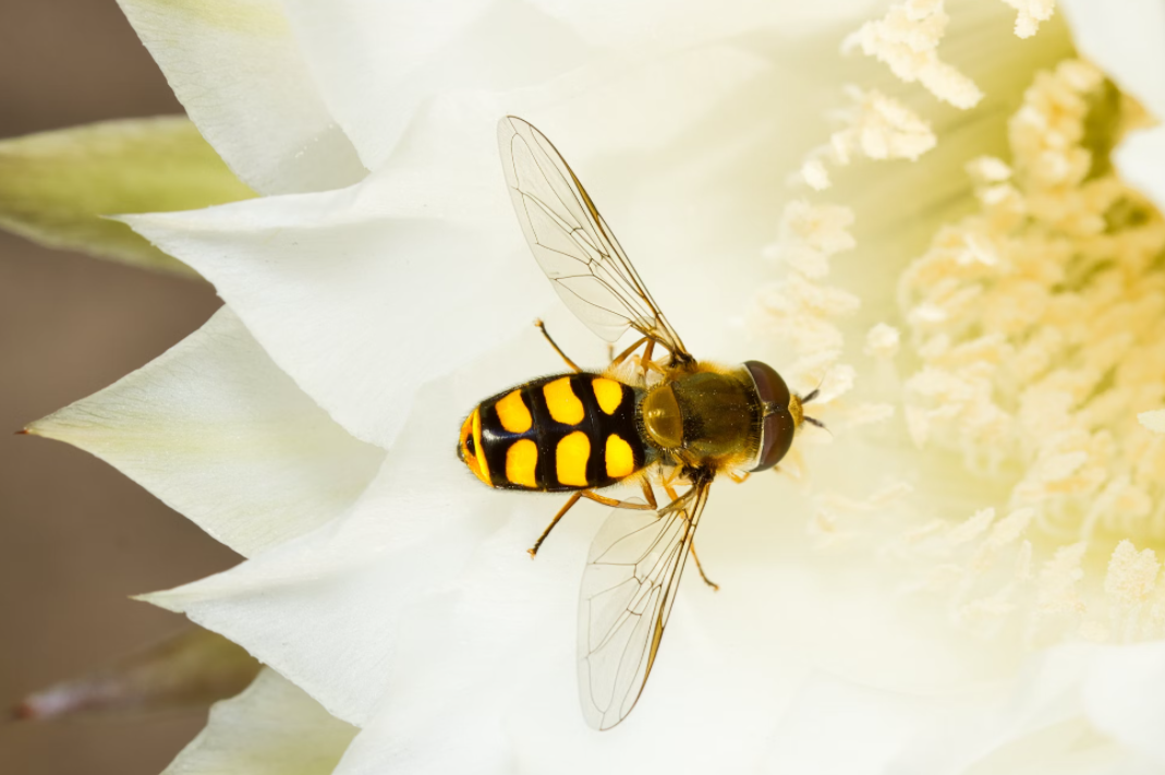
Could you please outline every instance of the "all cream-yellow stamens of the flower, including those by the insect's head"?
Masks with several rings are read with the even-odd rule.
[[[1021,37],[1052,14],[1051,2],[1005,1],[1019,12]],[[946,27],[941,0],[906,0],[846,48],[948,105],[980,110],[977,86],[940,56]],[[915,160],[941,142],[902,101],[857,87],[849,97],[847,126],[800,170],[816,191],[833,185],[826,162]],[[1165,219],[1109,160],[1148,124],[1089,64],[1064,59],[1038,73],[1008,122],[1010,158],[968,165],[973,214],[938,227],[898,276],[903,331],[883,323],[866,336],[874,382],[887,385],[896,357],[908,369],[901,402],[923,450],[910,464],[917,475],[895,480],[908,467],[898,459],[868,496],[814,492],[810,530],[824,547],[864,534],[919,579],[911,589],[940,592],[961,629],[1008,628],[1033,646],[1165,635]],[[859,298],[825,279],[832,256],[855,245],[853,221],[845,206],[786,206],[770,249],[785,279],[758,295],[763,324],[792,350],[790,385],[821,383],[816,408],[839,436],[895,414],[847,395],[857,369],[841,361],[860,355],[841,318]],[[796,468],[806,441],[786,458]],[[961,522],[902,529],[903,509],[933,515],[935,503],[968,499],[980,510],[960,507]],[[883,529],[896,536],[889,545],[873,535]]]

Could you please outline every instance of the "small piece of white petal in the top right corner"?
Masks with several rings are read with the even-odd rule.
[[[1080,52],[1165,119],[1165,3],[1059,0]]]

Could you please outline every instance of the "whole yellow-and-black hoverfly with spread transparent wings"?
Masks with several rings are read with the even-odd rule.
[[[458,443],[458,457],[490,487],[571,493],[531,556],[580,499],[615,507],[587,556],[578,634],[582,712],[609,730],[643,691],[689,554],[699,566],[692,536],[713,479],[742,481],[776,466],[802,423],[818,424],[803,411],[817,392],[790,393],[760,361],[697,360],[550,140],[515,117],[501,120],[497,140],[522,231],[555,290],[608,343],[638,334],[605,371],[591,372],[539,320],[571,371],[486,399]],[[661,348],[666,358],[656,360]],[[616,484],[638,484],[645,502],[596,492]]]

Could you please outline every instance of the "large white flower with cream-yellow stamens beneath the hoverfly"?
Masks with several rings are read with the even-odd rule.
[[[1025,411],[1031,374],[998,367],[1050,330],[1023,329],[1061,293],[1045,275],[1064,259],[1103,272],[1115,248],[1086,216],[1136,198],[1125,185],[1149,198],[1134,225],[1160,220],[1162,133],[1131,135],[1123,183],[1093,196],[1087,100],[1118,92],[1069,61],[1050,3],[1010,2],[1015,21],[990,2],[806,5],[123,0],[204,136],[267,196],[126,218],[227,308],[30,430],[104,457],[250,557],[149,599],[361,728],[351,745],[341,726],[322,732],[327,751],[301,772],[330,772],[341,749],[344,775],[1165,767],[1145,554],[1162,535],[1129,512],[1159,512],[1157,491],[1129,494],[1160,470],[1162,442],[1132,420],[1165,399],[1159,369],[1137,371],[1159,307],[1101,325],[1122,287],[1059,318],[1080,344],[1045,355],[1093,376],[1068,381],[1071,401]],[[1066,10],[1081,52],[1160,117],[1150,57],[1165,57],[1165,27],[1143,5]],[[820,381],[835,435],[798,441],[802,482],[716,485],[699,544],[722,591],[685,582],[642,702],[602,735],[576,709],[572,650],[606,509],[572,512],[531,563],[558,500],[489,492],[453,455],[476,401],[560,368],[535,317],[602,362],[504,204],[504,113],[566,153],[698,357]],[[963,167],[988,156],[973,186]],[[822,193],[795,191],[782,216],[793,170]],[[760,256],[777,232],[775,270]],[[1138,234],[1129,282],[1156,300],[1160,246]],[[1081,531],[1097,523],[1106,535]],[[183,759],[218,763],[183,772],[238,769],[226,717],[266,725],[273,702],[289,732],[252,752],[260,772],[316,728],[317,707],[260,681]]]

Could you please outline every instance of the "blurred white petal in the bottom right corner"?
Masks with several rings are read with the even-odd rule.
[[[913,735],[887,772],[1160,772],[1163,675],[1163,643],[1074,643],[1038,653],[1014,678],[962,697],[902,698],[897,705],[925,712],[938,725]],[[883,706],[877,716],[894,707]],[[926,724],[916,732],[924,730]]]

